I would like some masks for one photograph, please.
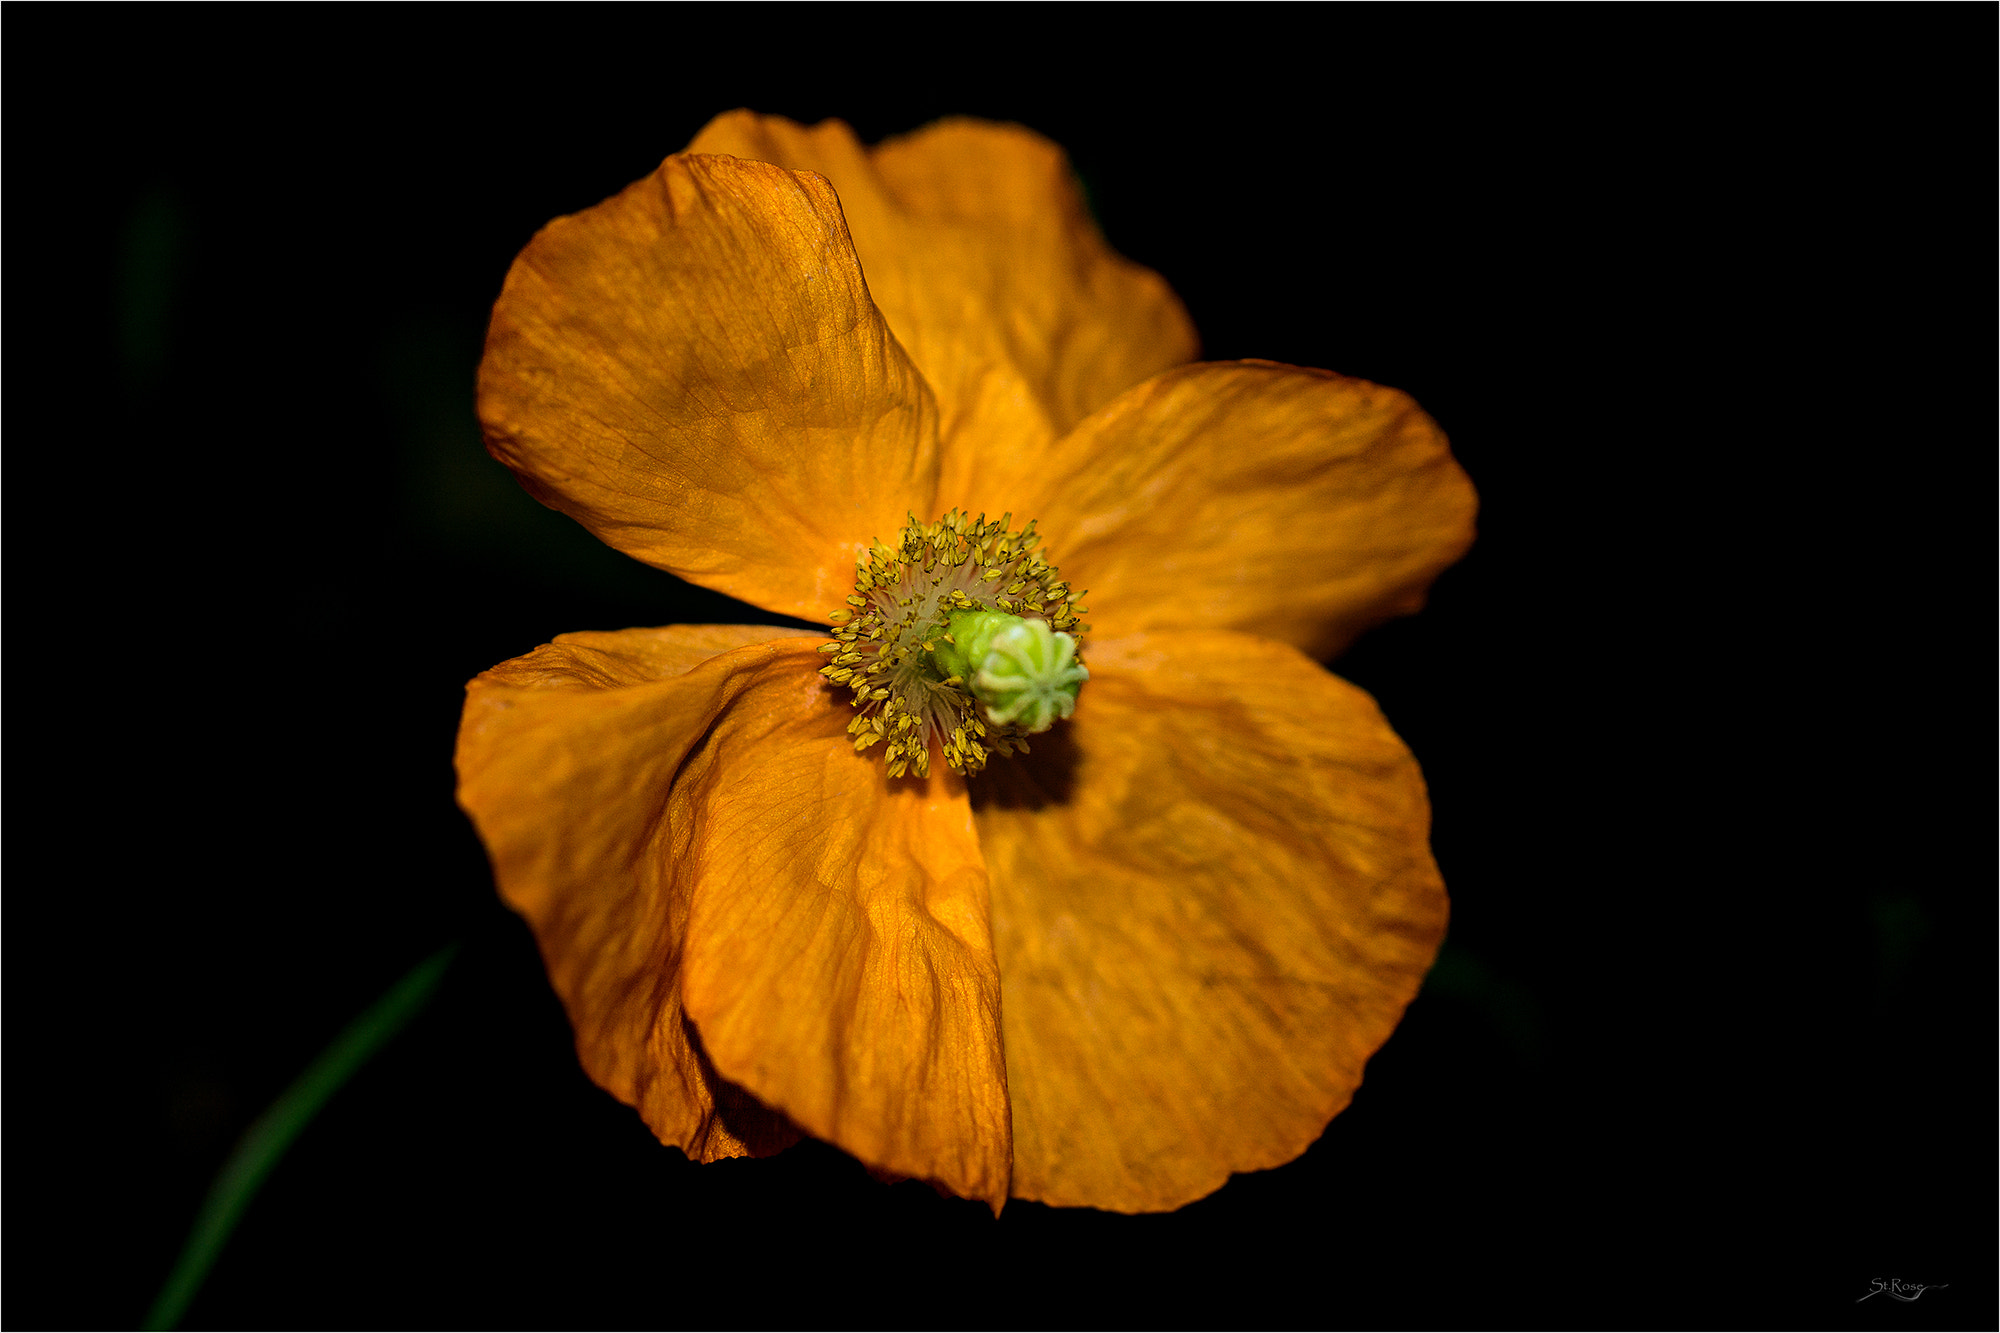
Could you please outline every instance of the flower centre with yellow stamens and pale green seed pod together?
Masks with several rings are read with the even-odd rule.
[[[888,741],[890,777],[928,775],[932,743],[954,773],[978,773],[1076,709],[1088,606],[1036,550],[1034,522],[1008,532],[1012,520],[912,514],[894,548],[854,562],[820,675],[854,691],[848,735],[856,753]]]

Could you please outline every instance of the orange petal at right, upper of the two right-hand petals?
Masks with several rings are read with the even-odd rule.
[[[996,494],[1040,518],[1098,634],[1236,628],[1318,658],[1422,606],[1478,506],[1406,394],[1258,360],[1140,384]]]

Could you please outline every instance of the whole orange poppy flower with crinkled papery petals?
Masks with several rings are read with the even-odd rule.
[[[468,687],[458,799],[662,1141],[1154,1211],[1348,1103],[1446,899],[1414,759],[1314,658],[1422,602],[1474,494],[1404,394],[1194,354],[1018,126],[732,112],[514,262],[478,402],[530,492],[766,610],[862,606]],[[944,612],[892,624],[946,574],[1088,681],[1008,723],[946,679]]]

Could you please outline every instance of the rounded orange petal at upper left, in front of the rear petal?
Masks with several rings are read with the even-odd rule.
[[[936,510],[936,404],[824,180],[674,156],[536,234],[480,362],[486,446],[628,554],[826,618]]]

